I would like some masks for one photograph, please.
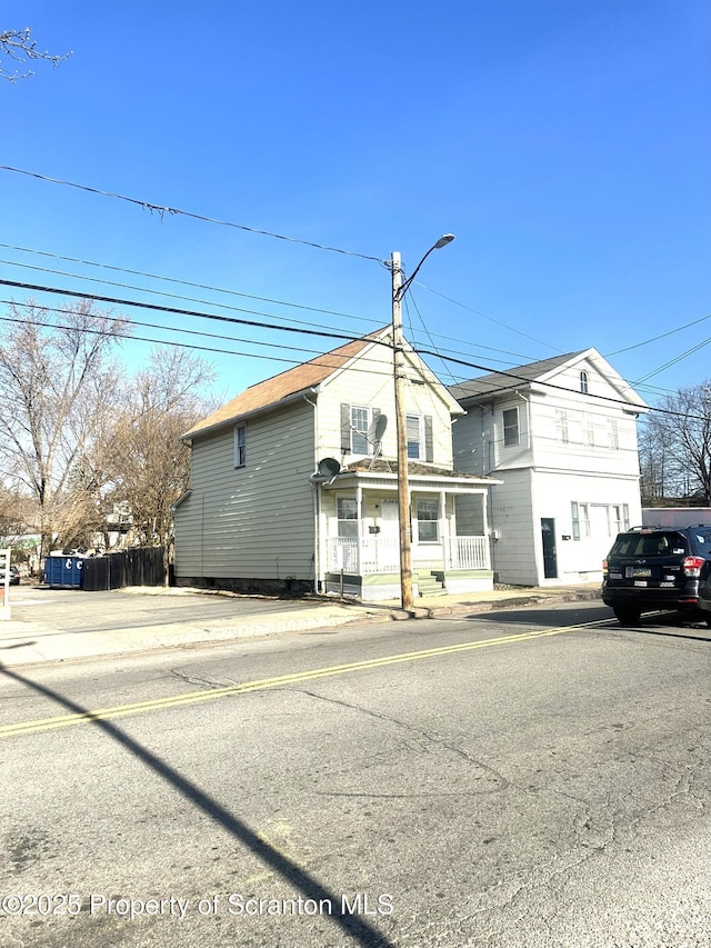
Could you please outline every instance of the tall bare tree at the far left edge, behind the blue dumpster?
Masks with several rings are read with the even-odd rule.
[[[33,526],[47,555],[87,525],[87,491],[77,490],[78,477],[114,403],[120,373],[109,355],[128,322],[94,312],[88,301],[62,310],[53,322],[42,307],[13,303],[9,320],[0,345],[6,409],[0,477],[9,489],[31,498]]]

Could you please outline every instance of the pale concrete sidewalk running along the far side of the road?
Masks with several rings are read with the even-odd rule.
[[[69,593],[71,595],[71,592]],[[86,593],[92,596],[93,593]],[[293,608],[283,609],[283,601],[273,611],[267,608],[259,615],[240,616],[240,599],[236,600],[234,615],[229,618],[202,618],[199,621],[161,621],[161,607],[172,605],[172,597],[219,596],[214,591],[198,589],[153,589],[142,587],[117,590],[118,596],[143,596],[158,613],[157,621],[139,627],[112,629],[62,629],[59,625],[12,618],[0,621],[0,666],[71,661],[153,651],[161,648],[189,648],[209,642],[224,642],[256,638],[278,632],[303,632],[333,628],[348,622],[385,621],[388,619],[434,619],[439,617],[469,616],[497,609],[517,609],[557,602],[580,602],[600,598],[600,585],[583,583],[565,587],[502,588],[489,592],[461,596],[432,596],[415,600],[414,609],[405,612],[399,601],[363,603],[331,597],[308,597],[294,600]],[[226,593],[230,596],[230,593]],[[126,601],[126,600],[124,600]],[[194,601],[194,600],[193,600]],[[262,600],[263,601],[263,600]],[[120,601],[117,598],[117,610]],[[17,609],[14,610],[18,611]],[[22,611],[28,611],[23,609]]]

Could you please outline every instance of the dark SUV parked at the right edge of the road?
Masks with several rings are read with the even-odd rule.
[[[602,601],[623,625],[652,609],[699,615],[711,626],[711,527],[634,527],[602,561]]]

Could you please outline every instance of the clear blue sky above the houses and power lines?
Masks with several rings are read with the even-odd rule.
[[[652,403],[711,377],[705,0],[3,3],[26,26],[73,54],[0,83],[0,164],[294,240],[0,170],[0,278],[357,337],[391,318],[382,261],[452,232],[415,347],[502,370],[594,346]],[[227,397],[338,345],[124,311],[220,350]]]

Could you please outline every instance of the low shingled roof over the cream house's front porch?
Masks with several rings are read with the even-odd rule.
[[[449,493],[481,493],[494,483],[503,483],[492,477],[452,471],[420,461],[408,461],[408,481],[412,490],[427,489],[445,490]],[[385,458],[362,458],[341,469],[334,478],[326,481],[327,490],[361,487],[397,490],[398,462]]]

